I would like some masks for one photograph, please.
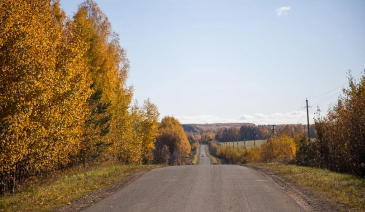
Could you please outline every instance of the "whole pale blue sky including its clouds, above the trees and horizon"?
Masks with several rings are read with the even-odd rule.
[[[61,5],[72,15],[80,2]],[[365,68],[364,0],[96,2],[127,50],[134,98],[183,123],[305,123],[307,97]],[[324,113],[340,91],[308,100],[328,98]]]

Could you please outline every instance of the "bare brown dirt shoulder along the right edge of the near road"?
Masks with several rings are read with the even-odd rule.
[[[322,197],[301,188],[299,185],[294,184],[279,174],[275,174],[270,170],[258,168],[256,166],[245,166],[264,174],[266,178],[273,181],[276,185],[285,190],[285,192],[287,192],[288,195],[292,197],[306,211],[338,211],[337,208],[329,204]]]

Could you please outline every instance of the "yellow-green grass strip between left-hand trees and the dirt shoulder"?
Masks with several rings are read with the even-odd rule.
[[[162,165],[109,165],[74,169],[59,174],[48,183],[20,189],[14,195],[0,197],[0,211],[52,211],[72,204],[94,190],[107,187],[133,173]]]

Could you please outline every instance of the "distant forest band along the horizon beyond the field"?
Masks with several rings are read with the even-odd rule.
[[[253,123],[212,123],[212,124],[183,124],[188,138],[207,142],[216,139],[219,142],[263,140],[269,138],[272,125],[255,125]],[[274,132],[279,136],[307,134],[307,125],[289,124],[274,125]],[[314,125],[310,125],[310,136],[314,137]]]

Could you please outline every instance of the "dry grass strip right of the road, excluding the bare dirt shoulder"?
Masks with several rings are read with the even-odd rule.
[[[319,168],[281,163],[249,163],[271,170],[323,196],[341,210],[365,211],[365,179]],[[345,206],[345,207],[344,207]]]

